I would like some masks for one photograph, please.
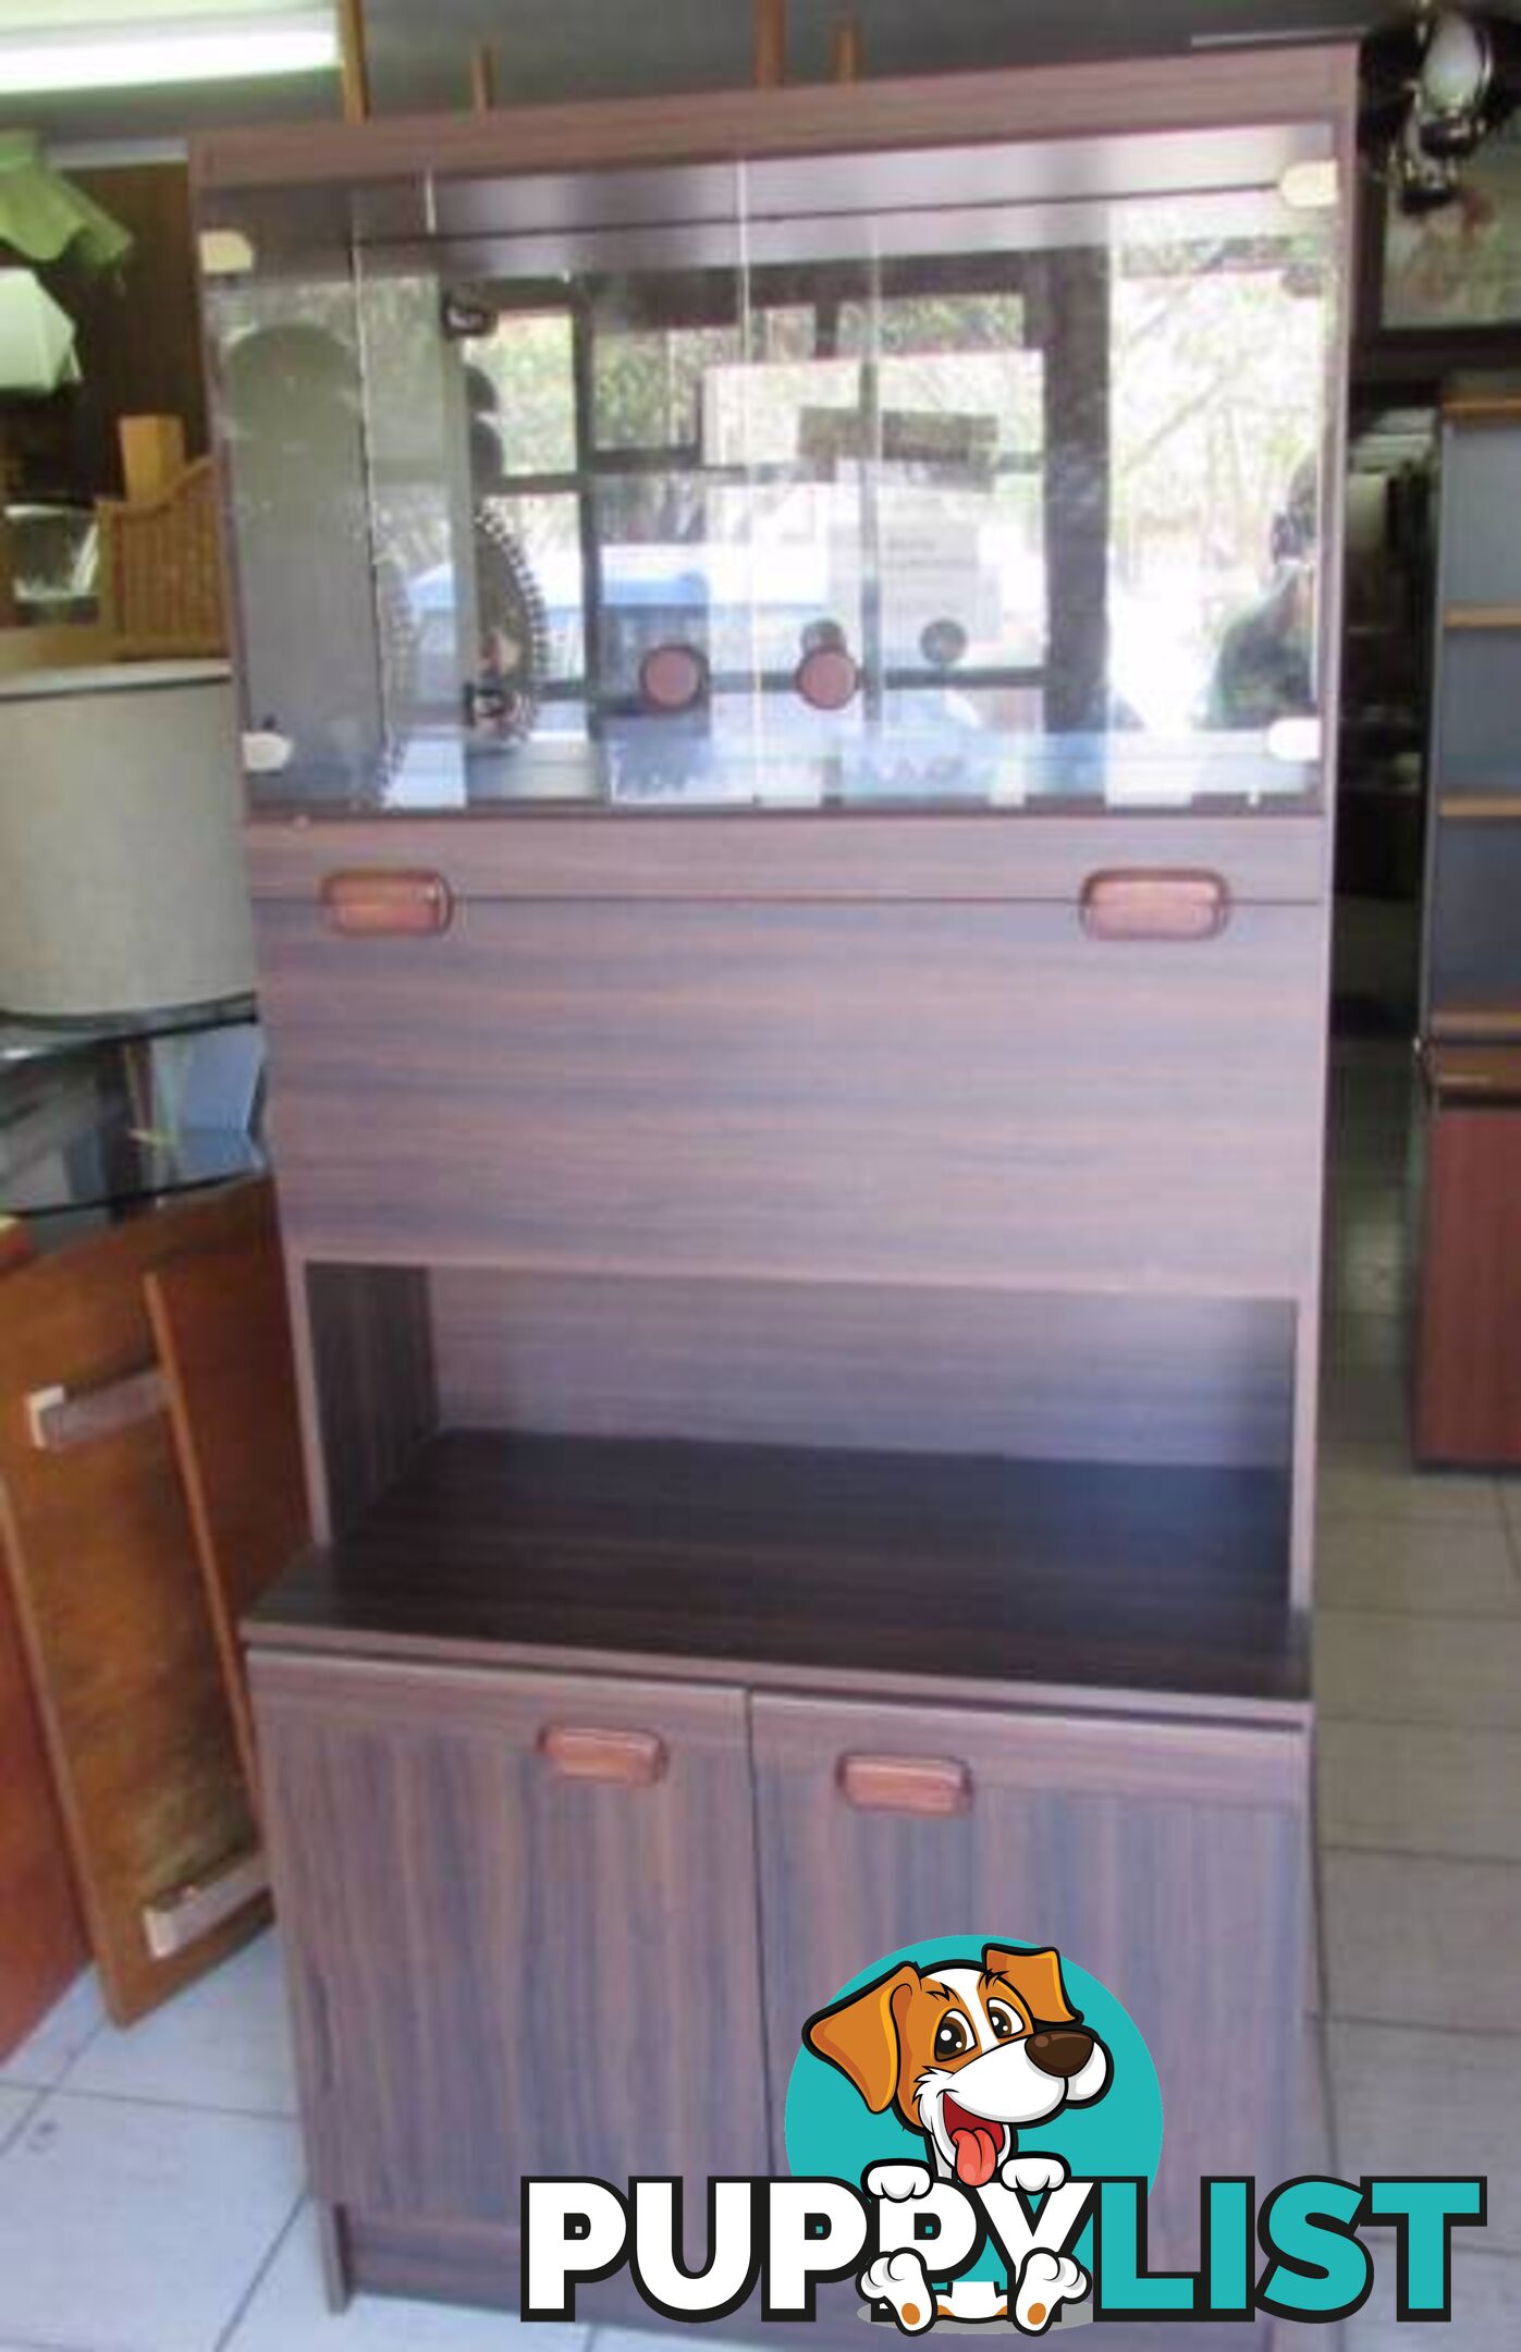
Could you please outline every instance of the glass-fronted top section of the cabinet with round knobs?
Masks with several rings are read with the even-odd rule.
[[[256,807],[1319,793],[1328,129],[216,207]]]

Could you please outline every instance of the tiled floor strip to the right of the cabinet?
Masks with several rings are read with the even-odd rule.
[[[1335,2154],[1488,2171],[1450,2328],[1521,2343],[1521,1482],[1413,1477],[1411,1056],[1335,1056],[1316,1606],[1319,1877]],[[1514,2260],[1512,2260],[1514,2258]]]

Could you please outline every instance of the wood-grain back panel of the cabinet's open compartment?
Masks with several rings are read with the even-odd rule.
[[[444,1428],[1288,1461],[1288,1305],[491,1268],[430,1294]]]

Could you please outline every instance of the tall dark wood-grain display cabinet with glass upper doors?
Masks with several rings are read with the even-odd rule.
[[[195,155],[339,2288],[512,2300],[524,2173],[780,2166],[802,2020],[983,1917],[1140,2023],[1157,2260],[1307,2154],[1354,103],[1316,47]]]

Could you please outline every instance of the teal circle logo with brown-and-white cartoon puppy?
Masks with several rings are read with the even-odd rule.
[[[1013,1962],[1009,1985],[1001,1987],[999,1978],[983,1976],[985,1957],[1006,1955]],[[1023,1969],[1023,1959],[1032,1962],[1032,1973]],[[1056,1976],[1051,1964],[1056,1962]],[[1041,1969],[1044,1964],[1044,1969]],[[889,1952],[884,1959],[872,1962],[846,1985],[839,1987],[832,2002],[818,2011],[816,2018],[799,2018],[799,2051],[792,2063],[792,2079],[788,2084],[788,2110],[785,2110],[785,2140],[788,2140],[788,2164],[797,2176],[830,2176],[835,2180],[860,2180],[860,2176],[872,2164],[931,2164],[931,2171],[950,2173],[947,2154],[936,2161],[931,2140],[924,2129],[914,2129],[900,2114],[898,2100],[875,2110],[875,2100],[884,2093],[889,2079],[886,2072],[872,2079],[863,2072],[867,2065],[877,2063],[875,2056],[875,2011],[884,2004],[851,2004],[853,1994],[865,1994],[867,1987],[886,1985],[889,1978],[900,1969],[919,1971],[926,1987],[943,1987],[943,1971],[973,1971],[983,1976],[983,1992],[969,2004],[940,2002],[940,1992],[931,1992],[926,2002],[910,2002],[905,1994],[912,1992],[905,1978],[905,1994],[898,1997],[896,2020],[898,2032],[910,2039],[917,2034],[922,2042],[936,2025],[943,2011],[969,2006],[973,2011],[973,2032],[987,2039],[987,2016],[999,2011],[999,2030],[1011,2023],[1016,2034],[1025,2025],[1044,2025],[1044,2018],[1032,2018],[1032,2009],[1056,2009],[1065,1992],[1065,2006],[1077,2011],[1081,2018],[1081,2032],[1095,2037],[1098,2044],[1110,2056],[1107,2079],[1093,2098],[1084,2103],[1065,2100],[1056,2105],[1056,2112],[1020,2122],[1011,2126],[1004,2145],[994,2147],[990,2138],[978,2138],[978,2133],[945,2133],[954,2136],[957,2145],[957,2176],[961,2180],[976,2178],[987,2171],[987,2164],[1006,2161],[1018,2143],[1018,2152],[1039,2152],[1060,2157],[1074,2180],[1100,2180],[1100,2178],[1140,2178],[1147,2185],[1157,2180],[1157,2166],[1161,2161],[1161,2086],[1157,2082],[1157,2067],[1152,2065],[1152,2053],[1147,2051],[1138,2025],[1121,2009],[1107,1985],[1100,1985],[1095,1976],[1088,1976],[1084,1966],[1070,1959],[1065,1952],[1051,1955],[1048,1947],[1023,1943],[1018,1938],[997,1933],[964,1933],[964,1936],[931,1936],[924,1943],[905,1943],[900,1950]],[[1013,2002],[999,2002],[997,1994],[1016,1992],[1025,1987],[1020,1997],[1020,2009]],[[1034,1994],[1051,1985],[1044,1999]],[[933,2004],[933,2006],[931,2006]],[[837,2042],[827,2025],[820,2020],[835,2018],[844,2011],[851,2018],[860,2018],[865,2039],[846,2051],[849,2067],[839,2058],[818,2056],[818,2049],[809,2049],[804,2032],[816,2032],[816,2039]],[[1056,2011],[1060,2020],[1060,2009]],[[940,2027],[936,2027],[940,2030]],[[924,2065],[933,2067],[950,2042],[961,2032],[952,2027],[936,2051],[933,2039],[924,2049],[898,2046],[896,2053],[886,2049],[882,2053],[882,2067],[891,2067],[893,2086],[900,2082],[912,2082]],[[893,2023],[886,2023],[886,2034],[893,2034]],[[860,2049],[860,2063],[856,2063],[853,2051]],[[1081,2051],[1081,2042],[1072,2042],[1072,2058]],[[943,2063],[947,2079],[954,2089],[954,2051]],[[971,2058],[971,2053],[966,2053]],[[1072,2058],[1063,2056],[1063,2065]],[[1103,2070],[1098,2070],[1103,2074]],[[1084,2091],[1093,2082],[1093,2070],[1088,2074],[1074,2074],[1070,2089]],[[1063,2098],[1063,2084],[1058,2082],[1051,2091],[1051,2100]],[[997,2126],[994,2126],[997,2129]],[[945,2147],[945,2138],[940,2147]],[[969,2140],[966,2154],[961,2152],[961,2140]],[[987,2147],[987,2157],[978,2154],[978,2147]],[[1084,2230],[1077,2258],[1081,2263],[1091,2256],[1091,2230]],[[985,2249],[971,2277],[992,2274],[997,2270],[997,2253]]]

